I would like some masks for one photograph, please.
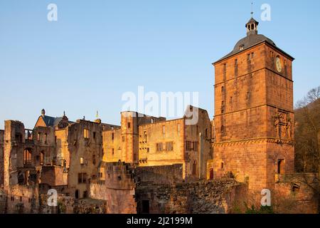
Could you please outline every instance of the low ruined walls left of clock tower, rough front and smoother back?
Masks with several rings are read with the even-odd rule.
[[[183,182],[182,165],[137,167],[138,213],[229,213],[246,200],[247,186],[235,180]]]

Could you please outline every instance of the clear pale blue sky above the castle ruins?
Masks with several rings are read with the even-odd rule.
[[[58,21],[47,20],[48,4]],[[211,63],[245,36],[250,0],[0,0],[0,129],[41,109],[119,124],[122,93],[198,91],[213,116]],[[272,21],[261,21],[270,4]],[[320,85],[320,1],[255,1],[259,33],[294,61],[294,101]]]

